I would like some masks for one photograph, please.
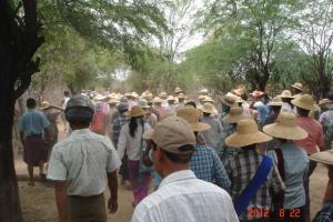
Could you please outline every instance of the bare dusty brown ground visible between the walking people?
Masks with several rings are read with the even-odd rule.
[[[63,133],[61,133],[61,138]],[[26,164],[18,158],[16,160],[16,169],[19,176],[27,176]],[[38,169],[36,169],[36,174]],[[314,215],[322,206],[323,195],[327,184],[327,170],[324,165],[319,164],[311,176],[311,209]],[[119,210],[115,214],[109,214],[109,221],[128,222],[131,220],[132,192],[124,186],[119,186]],[[19,181],[20,200],[23,216],[27,222],[56,222],[57,206],[54,200],[54,189],[48,188],[41,182],[37,182],[36,186],[29,186],[24,180]],[[105,193],[105,199],[110,194]]]

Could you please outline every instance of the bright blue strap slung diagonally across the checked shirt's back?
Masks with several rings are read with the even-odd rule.
[[[254,196],[256,191],[266,181],[268,175],[272,169],[272,163],[273,162],[271,158],[269,158],[268,155],[263,155],[263,159],[254,176],[234,202],[234,209],[238,215],[242,214],[242,212],[248,208],[251,199]]]

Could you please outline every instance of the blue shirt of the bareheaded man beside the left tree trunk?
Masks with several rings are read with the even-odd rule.
[[[40,135],[43,130],[50,125],[43,112],[37,110],[28,110],[28,112],[20,119],[19,131],[23,132],[26,137]]]

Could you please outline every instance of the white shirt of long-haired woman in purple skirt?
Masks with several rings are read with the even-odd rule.
[[[129,160],[140,160],[141,154],[141,140],[142,140],[142,124],[141,121],[138,120],[138,128],[134,133],[134,138],[130,134],[130,123],[124,124],[121,128],[119,140],[118,140],[118,154],[119,158],[122,159],[124,155],[124,151],[127,151]],[[144,131],[149,130],[150,125],[144,123]],[[145,143],[142,141],[142,145],[144,147]],[[144,148],[142,148],[144,150]]]

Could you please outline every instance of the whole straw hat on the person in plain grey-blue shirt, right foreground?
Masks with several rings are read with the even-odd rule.
[[[273,124],[268,124],[263,131],[274,138],[286,140],[303,140],[307,138],[307,132],[296,123],[296,115],[290,112],[281,112]]]

